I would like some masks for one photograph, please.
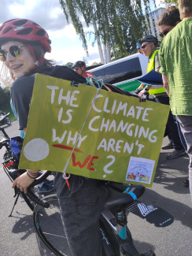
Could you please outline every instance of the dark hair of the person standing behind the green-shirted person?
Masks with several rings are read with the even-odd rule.
[[[166,11],[161,15],[160,19],[157,21],[157,26],[168,25],[173,26],[180,22],[179,9],[175,6],[168,6]]]

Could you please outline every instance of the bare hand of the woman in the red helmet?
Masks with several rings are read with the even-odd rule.
[[[27,194],[28,187],[33,183],[27,172],[18,176],[16,180],[13,181],[12,187],[18,187],[20,191],[24,191],[24,194]]]

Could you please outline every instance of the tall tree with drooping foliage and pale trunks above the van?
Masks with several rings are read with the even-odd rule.
[[[155,0],[153,2],[155,4]],[[126,56],[136,47],[135,42],[148,32],[150,0],[60,0],[60,4],[68,23],[72,20],[87,54],[81,17],[88,28],[94,27],[94,41],[98,43],[102,63],[104,58],[109,62],[111,49],[116,54],[114,45]]]

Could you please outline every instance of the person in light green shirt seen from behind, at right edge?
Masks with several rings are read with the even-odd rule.
[[[192,2],[178,2],[182,21],[164,38],[159,58],[164,88],[170,97],[172,113],[179,121],[190,157],[192,200]]]

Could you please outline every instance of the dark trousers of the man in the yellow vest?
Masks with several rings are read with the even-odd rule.
[[[157,96],[155,98],[156,102],[159,102],[164,105],[169,105],[169,98],[164,96]],[[183,145],[181,143],[181,140],[179,138],[179,132],[177,128],[177,124],[175,122],[175,119],[172,115],[171,110],[168,114],[168,121],[166,124],[165,134],[168,135],[168,139],[172,141],[173,147],[175,150],[182,150]]]

